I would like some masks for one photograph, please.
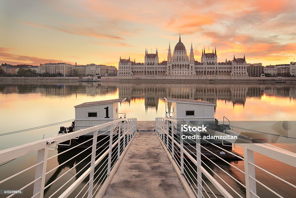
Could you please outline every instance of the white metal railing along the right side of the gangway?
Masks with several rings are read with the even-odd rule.
[[[218,155],[216,155],[215,153],[211,152],[209,149],[207,149],[206,147],[200,145],[200,142],[196,142],[196,148],[192,146],[192,143],[189,144],[187,141],[183,140],[181,138],[181,134],[178,135],[178,133],[182,133],[180,132],[180,127],[177,126],[181,125],[181,124],[188,124],[188,123],[183,123],[181,121],[177,121],[176,119],[171,119],[171,118],[164,118],[164,117],[157,117],[155,119],[155,132],[158,136],[160,136],[161,141],[163,141],[163,143],[165,144],[168,152],[171,154],[171,157],[173,158],[173,160],[176,161],[179,169],[181,170],[181,172],[184,174],[184,176],[187,178],[187,182],[189,182],[189,185],[193,188],[193,186],[191,185],[190,181],[197,181],[197,184],[201,184],[202,182],[204,182],[202,180],[201,175],[199,174],[199,172],[202,172],[207,178],[208,180],[213,184],[213,186],[215,186],[215,188],[224,196],[224,197],[232,197],[228,191],[226,191],[226,189],[224,189],[220,183],[213,177],[211,176],[210,172],[214,173],[221,181],[223,181],[223,183],[226,184],[226,186],[228,186],[232,191],[234,191],[234,193],[236,193],[239,197],[242,197],[241,194],[239,194],[238,192],[236,192],[230,185],[229,183],[227,183],[226,181],[223,180],[223,178],[221,178],[214,170],[212,170],[205,162],[203,162],[201,160],[201,155],[204,156],[206,159],[209,160],[209,162],[213,163],[215,166],[217,166],[220,170],[223,171],[223,173],[226,173],[226,175],[228,175],[230,178],[232,178],[235,182],[239,183],[242,187],[244,187],[246,189],[246,197],[247,198],[255,198],[255,197],[259,197],[257,195],[256,192],[256,183],[259,183],[260,185],[262,185],[263,187],[265,187],[267,190],[269,190],[271,193],[276,194],[279,197],[282,197],[279,193],[277,193],[275,190],[276,189],[270,189],[268,188],[266,185],[264,185],[262,183],[262,181],[258,181],[255,178],[255,167],[259,168],[260,170],[264,171],[265,173],[268,173],[270,176],[272,176],[275,179],[278,179],[279,181],[282,181],[292,187],[294,187],[296,189],[296,186],[282,178],[280,178],[279,176],[276,176],[273,173],[268,172],[267,170],[265,170],[262,167],[259,167],[258,165],[255,164],[255,160],[254,160],[254,152],[263,154],[267,157],[270,157],[274,160],[278,160],[280,162],[286,163],[288,165],[291,165],[293,167],[296,167],[296,154],[293,152],[289,152],[287,150],[278,148],[274,145],[270,145],[270,144],[258,144],[258,143],[250,143],[250,141],[244,140],[244,139],[239,139],[238,141],[235,142],[231,142],[231,143],[235,143],[237,145],[239,145],[240,147],[243,148],[244,151],[244,158],[237,156],[236,154],[233,154],[232,152],[229,152],[221,147],[219,147],[216,144],[211,143],[210,141],[207,141],[206,139],[202,139],[208,143],[210,143],[212,146],[215,146],[223,151],[226,151],[236,157],[238,157],[241,160],[244,160],[244,171],[240,170],[239,168],[235,167],[234,165],[230,164],[229,162],[227,162],[226,160],[223,160],[221,157],[219,157]],[[176,128],[175,128],[176,127]],[[176,130],[177,129],[177,130]],[[197,135],[190,133],[190,132],[186,132],[189,133],[191,135]],[[203,133],[207,133],[209,135],[214,135],[214,134],[219,134],[221,136],[225,136],[225,133],[221,133],[218,131],[213,131],[210,129],[207,129],[207,131],[204,131]],[[179,142],[178,142],[179,141]],[[227,140],[228,141],[228,140]],[[194,154],[191,150],[189,150],[189,148],[187,148],[184,143],[189,144],[189,146],[191,146],[192,148],[195,149],[196,154]],[[214,156],[218,157],[219,159],[223,160],[224,162],[226,162],[227,164],[230,164],[231,166],[233,166],[234,168],[236,168],[237,170],[239,170],[241,173],[243,173],[245,175],[245,185],[243,182],[241,181],[241,178],[235,178],[235,175],[230,175],[229,173],[227,173],[225,170],[223,170],[223,168],[221,168],[218,164],[216,164],[213,160],[210,160],[210,158],[206,157],[205,154],[203,154],[200,151],[200,147],[202,147],[203,149],[207,150],[208,152],[210,152],[211,154],[213,154]],[[179,150],[176,150],[175,148],[178,148]],[[188,151],[187,151],[188,150]],[[177,152],[177,153],[176,153]],[[192,154],[190,154],[192,153]],[[197,155],[198,154],[198,155]],[[179,156],[180,159],[178,159],[176,156]],[[184,160],[184,156],[186,156],[187,160]],[[188,173],[188,171],[186,169],[184,169],[184,167],[189,168],[186,164],[186,162],[193,162],[193,164],[197,167],[197,170],[194,170],[194,172],[191,172],[189,169],[189,173],[194,176],[194,174],[196,176],[194,176],[194,180],[192,178],[190,178],[190,175]],[[202,162],[209,170],[206,170],[203,166],[201,166],[200,162]],[[190,167],[192,167],[192,165],[189,163]],[[185,173],[185,172],[187,173]],[[210,171],[210,172],[208,172]],[[194,173],[194,174],[193,174]],[[194,183],[194,186],[196,186],[196,184]],[[209,186],[206,185],[208,188]],[[197,192],[200,192],[201,189],[205,190],[202,186],[196,186]],[[210,188],[209,188],[210,189]],[[210,189],[211,192],[213,192]],[[208,192],[205,192],[208,195]],[[202,193],[196,193],[196,196],[198,198],[204,197],[202,195]]]

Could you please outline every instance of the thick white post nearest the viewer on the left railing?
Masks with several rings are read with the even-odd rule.
[[[45,142],[46,144],[46,142]],[[35,179],[41,177],[41,179],[34,182],[33,195],[40,192],[36,197],[43,198],[44,195],[44,184],[45,184],[45,174],[46,174],[46,164],[48,156],[48,147],[46,145],[44,149],[38,150],[37,163],[43,162],[36,166]]]

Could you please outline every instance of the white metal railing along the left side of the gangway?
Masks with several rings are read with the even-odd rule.
[[[70,133],[63,134],[63,135],[54,136],[51,138],[47,138],[47,139],[35,141],[32,143],[20,145],[17,147],[2,150],[2,151],[0,151],[0,163],[7,162],[9,160],[13,160],[18,157],[22,157],[22,156],[25,156],[26,154],[30,154],[30,153],[33,153],[36,151],[38,151],[38,156],[37,156],[37,163],[35,163],[34,165],[31,165],[29,168],[25,168],[24,170],[21,170],[15,174],[13,174],[12,176],[4,178],[2,181],[0,181],[0,183],[2,183],[2,186],[3,186],[3,185],[5,185],[5,182],[7,182],[8,180],[24,173],[27,170],[30,170],[33,167],[36,167],[35,180],[31,181],[30,183],[28,183],[27,185],[25,185],[21,189],[24,189],[24,188],[30,186],[31,184],[34,184],[34,189],[32,192],[33,197],[43,197],[44,196],[44,189],[46,189],[49,186],[56,183],[56,181],[59,180],[61,177],[63,177],[67,173],[70,173],[70,171],[72,169],[77,168],[77,165],[79,165],[81,162],[86,160],[88,157],[91,157],[91,160],[87,161],[88,163],[86,163],[86,165],[84,165],[84,167],[81,170],[79,170],[76,174],[74,174],[74,176],[72,176],[68,181],[63,183],[63,185],[59,185],[58,190],[54,194],[60,194],[60,195],[58,195],[59,197],[69,196],[76,189],[76,187],[78,185],[80,185],[80,183],[86,177],[89,176],[89,181],[87,182],[87,184],[89,184],[89,187],[86,190],[85,194],[88,193],[88,197],[93,197],[94,193],[97,191],[97,189],[96,189],[96,191],[93,192],[94,187],[100,181],[100,179],[102,178],[103,175],[101,176],[101,178],[99,179],[98,182],[96,182],[96,179],[98,178],[100,173],[103,173],[104,171],[107,171],[107,173],[110,173],[110,170],[114,167],[116,161],[122,158],[120,156],[122,151],[128,145],[129,141],[131,141],[132,137],[136,134],[136,122],[137,122],[136,118],[122,118],[122,119],[114,120],[112,122],[107,122],[107,123],[104,123],[101,125],[96,125],[93,127],[81,129],[79,131],[73,131]],[[105,128],[105,130],[106,130],[107,127],[108,128],[110,127],[110,129],[103,132],[103,133],[98,133],[98,131],[100,131],[101,129],[104,130],[104,128]],[[109,131],[110,131],[110,133],[107,133]],[[55,154],[52,157],[48,157],[48,150],[49,150],[50,146],[57,145],[62,142],[65,142],[65,141],[69,141],[71,139],[75,139],[79,136],[83,136],[86,134],[88,134],[88,135],[92,134],[93,137],[78,144],[78,145],[73,146],[70,149],[67,149],[66,151]],[[99,141],[97,141],[98,136],[104,136],[104,137],[102,139],[100,139]],[[79,145],[83,146],[84,143],[91,141],[91,140],[92,140],[91,146],[85,147],[86,149],[83,149],[78,154],[75,154],[75,155],[73,154],[73,156],[69,156],[68,160],[60,163],[56,167],[50,168],[50,170],[48,170],[46,172],[46,164],[47,164],[48,160],[51,160],[54,157],[58,157],[60,154],[65,154],[66,152],[72,150],[73,148],[78,147]],[[97,144],[100,143],[101,141],[106,141],[106,142],[97,148]],[[104,145],[106,145],[107,147],[103,149]],[[97,154],[96,152],[98,151],[98,149],[103,149],[103,150],[99,154]],[[80,162],[76,162],[73,167],[71,167],[69,170],[64,172],[58,178],[54,179],[54,181],[50,181],[50,183],[46,184],[46,186],[45,186],[45,181],[46,180],[48,181],[48,179],[46,178],[47,174],[51,173],[53,170],[56,170],[57,168],[62,167],[70,160],[76,159],[75,157],[82,154],[83,152],[86,152],[87,150],[91,150],[91,153],[86,154],[86,157],[84,157],[83,160],[81,160]],[[107,157],[107,159],[105,157]],[[99,167],[99,168],[102,167],[103,169],[100,170],[101,172],[99,173],[99,175],[96,178],[94,178],[94,174],[99,170],[98,169],[98,170],[96,170],[96,172],[94,172],[94,168],[97,167],[97,165],[99,165],[99,163],[101,163],[101,162],[103,162],[102,165],[103,164],[106,164],[106,165],[103,167],[101,165]],[[84,172],[82,172],[82,170]],[[81,174],[81,176],[79,176],[78,178],[75,178],[78,174]],[[108,174],[107,174],[107,177],[108,177]],[[65,186],[70,181],[73,181],[73,179],[75,179],[75,181],[72,182],[72,184],[66,190],[64,190],[62,193],[60,193],[59,190],[62,189],[63,186]],[[101,183],[102,182],[103,181],[101,181]],[[7,187],[9,187],[9,186],[7,186]],[[84,189],[84,187],[83,187],[83,189]],[[79,194],[82,192],[82,190],[79,192]],[[28,193],[28,192],[26,192],[26,193]],[[54,194],[51,194],[50,197],[53,197]],[[14,196],[14,194],[10,194],[8,197],[12,197],[12,196]]]

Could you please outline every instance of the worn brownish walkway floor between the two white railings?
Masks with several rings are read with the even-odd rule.
[[[138,132],[104,197],[187,196],[157,135],[154,132]]]

